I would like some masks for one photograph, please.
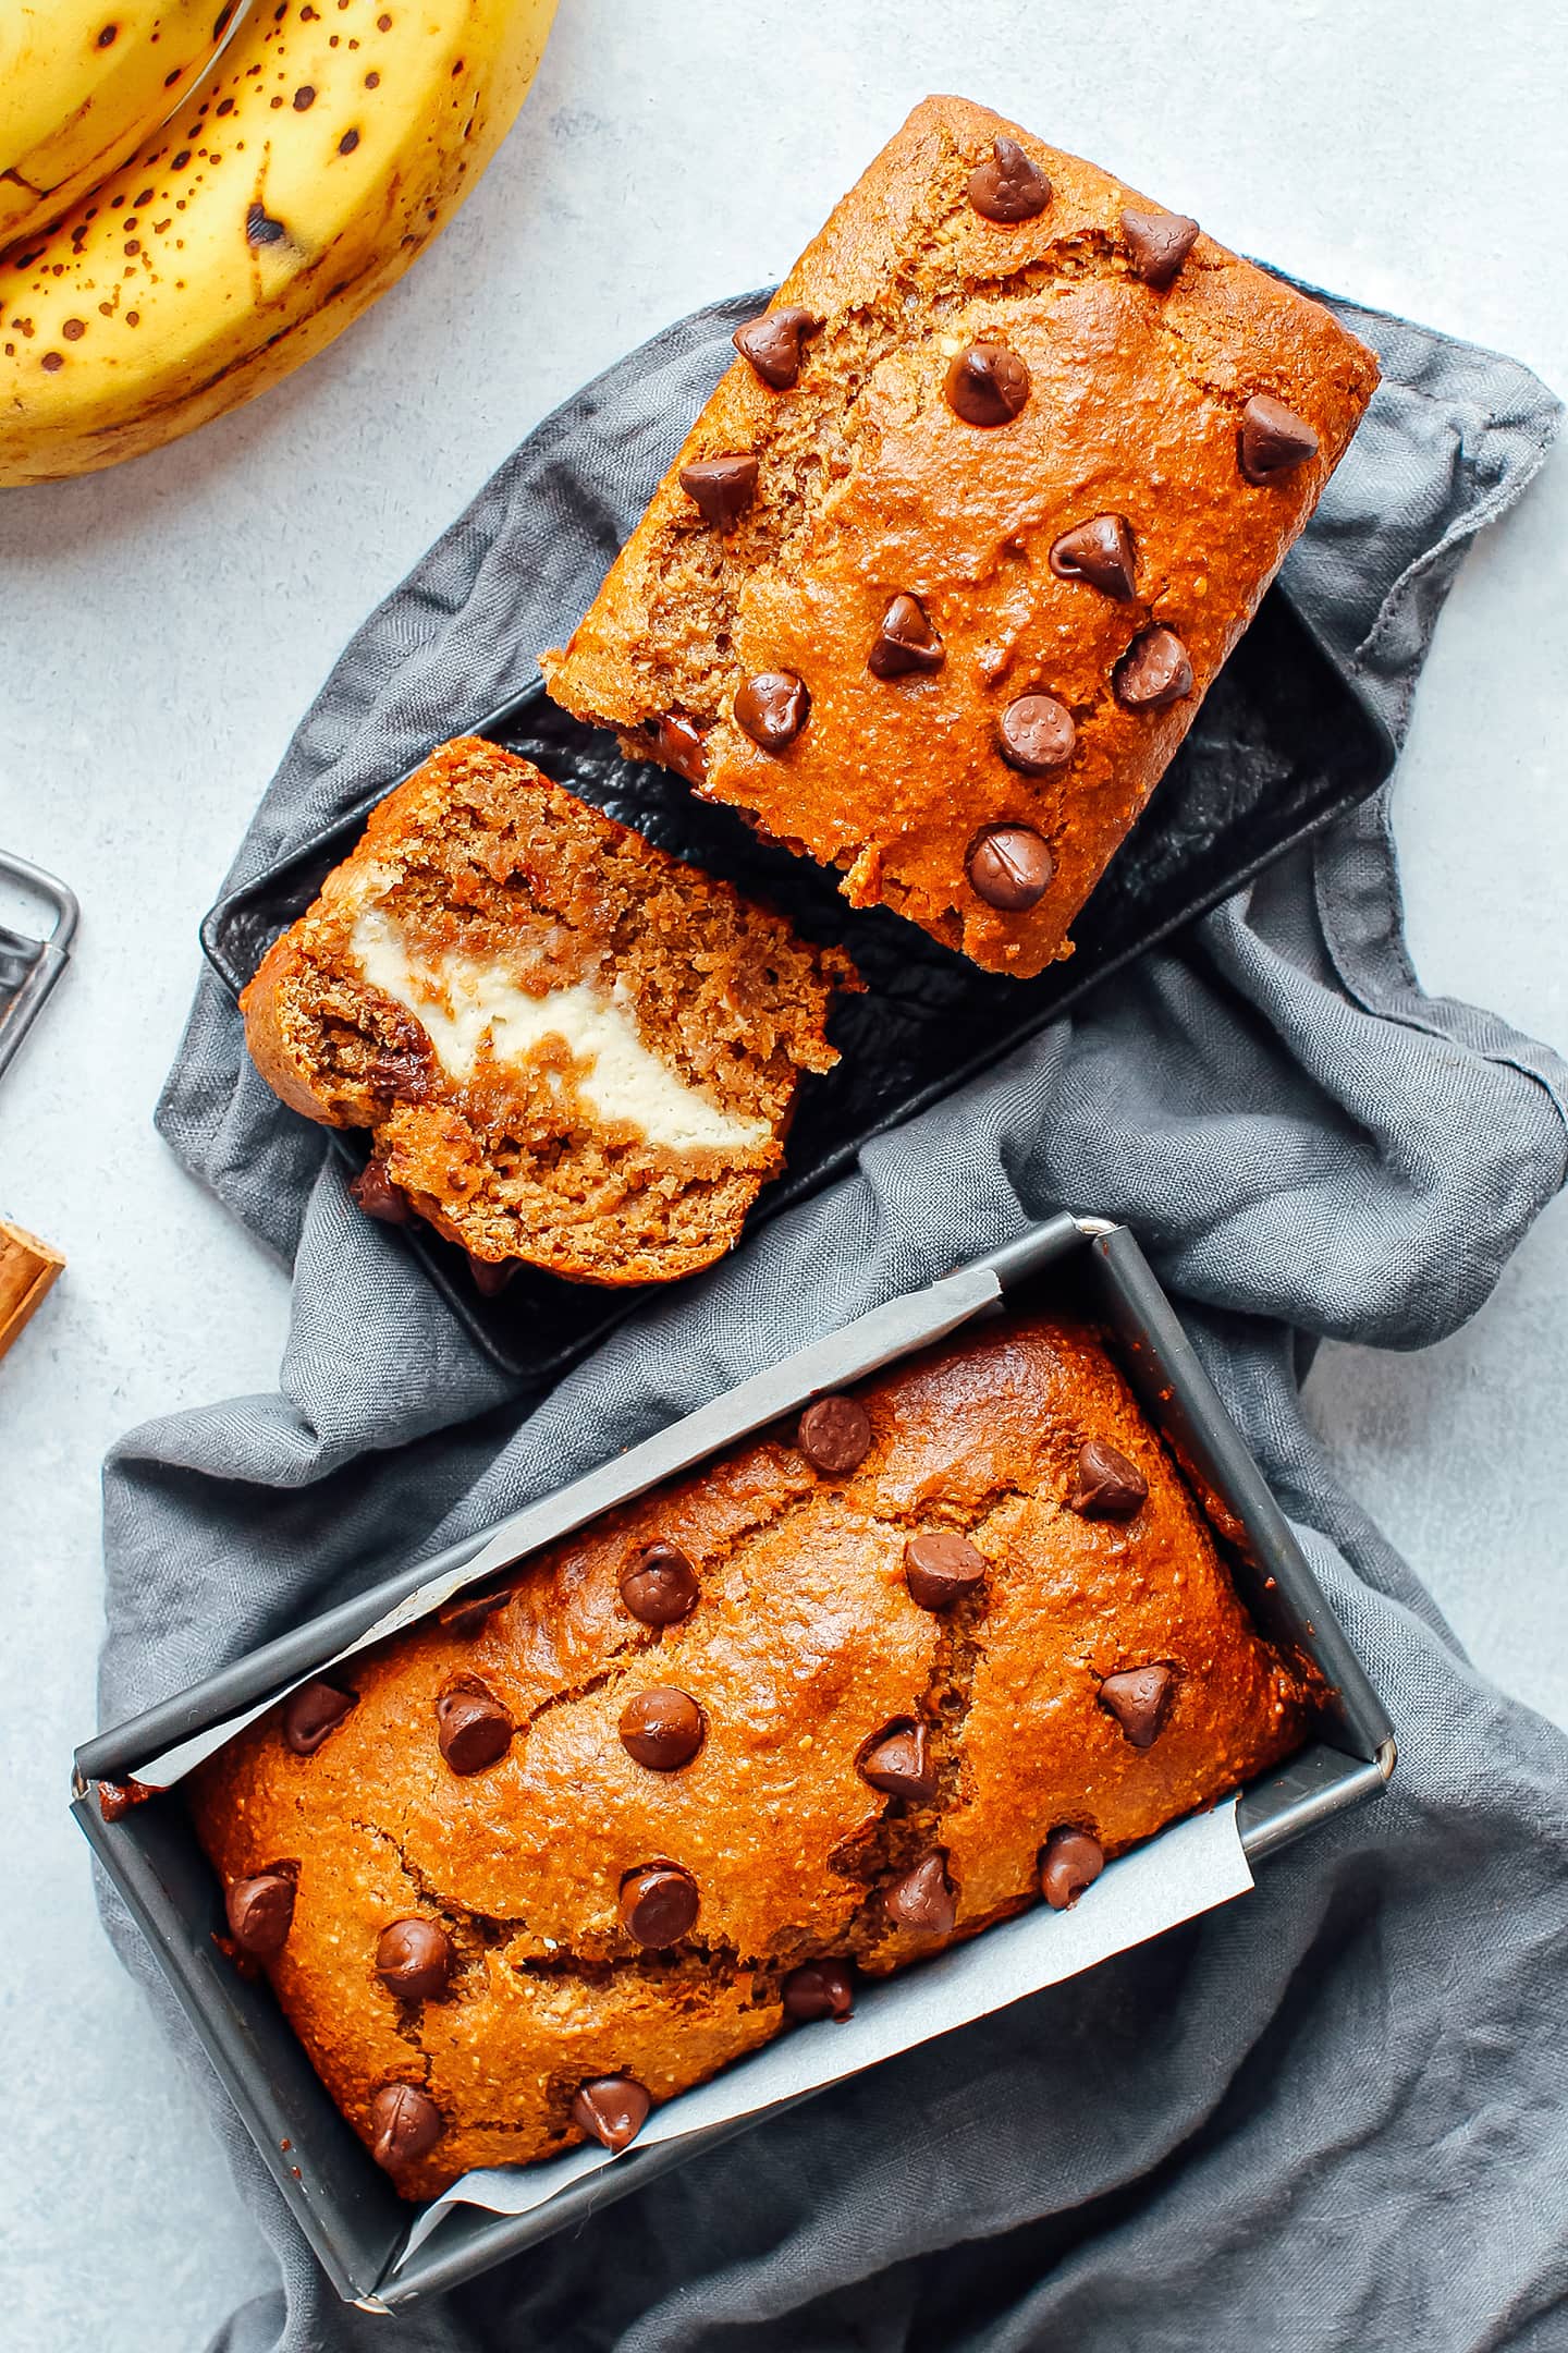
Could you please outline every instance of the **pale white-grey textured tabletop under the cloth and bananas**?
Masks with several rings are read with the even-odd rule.
[[[331,652],[583,376],[778,275],[926,89],[992,101],[1220,238],[1563,388],[1566,71],[1547,0],[1495,26],[1460,0],[562,0],[517,132],[371,318],[190,442],[0,501],[0,842],[85,906],[0,1094],[0,1205],[71,1257],[0,1367],[16,2353],[183,2353],[270,2278],[101,1941],[63,1800],[92,1722],[99,1457],[139,1419],[275,1377],[282,1275],[174,1169],[150,1111],[195,920]],[[1460,581],[1399,791],[1427,986],[1559,1045],[1566,544],[1559,456]],[[1309,1384],[1481,1666],[1559,1720],[1566,1386],[1561,1207],[1467,1332],[1410,1360],[1328,1348]]]

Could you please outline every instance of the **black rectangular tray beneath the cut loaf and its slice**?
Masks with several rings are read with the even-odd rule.
[[[844,1059],[802,1087],[785,1169],[764,1186],[752,1221],[842,1176],[870,1136],[1013,1052],[1095,981],[1366,800],[1394,765],[1385,729],[1284,591],[1272,588],[1074,922],[1077,953],[1039,979],[1013,981],[978,972],[889,908],[846,906],[832,873],[759,842],[733,809],[698,800],[668,769],[623,760],[611,734],[569,718],[538,680],[484,718],[454,713],[451,732],[522,753],[672,856],[724,875],[780,908],[809,939],[837,941],[853,955],[867,991],[835,1014],[830,1035]],[[202,946],[235,995],[397,781],[388,776],[329,831],[214,906]],[[364,1162],[362,1136],[339,1132],[334,1141],[346,1167]],[[541,1391],[646,1297],[524,1266],[501,1297],[482,1299],[461,1249],[423,1224],[404,1228],[404,1240],[480,1346]]]

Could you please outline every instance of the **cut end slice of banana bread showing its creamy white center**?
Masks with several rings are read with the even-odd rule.
[[[369,1127],[355,1195],[475,1273],[665,1282],[731,1247],[783,1160],[835,951],[477,736],[447,744],[240,998],[268,1085]]]

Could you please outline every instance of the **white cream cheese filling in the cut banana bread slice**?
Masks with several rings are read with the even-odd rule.
[[[473,1078],[487,1040],[494,1061],[522,1064],[557,1038],[578,1064],[578,1096],[611,1127],[635,1127],[672,1153],[750,1151],[771,1136],[766,1120],[722,1111],[649,1052],[621,984],[607,993],[592,981],[571,981],[529,995],[498,965],[475,955],[423,962],[378,906],[360,908],[348,953],[371,988],[414,1014],[458,1087]]]

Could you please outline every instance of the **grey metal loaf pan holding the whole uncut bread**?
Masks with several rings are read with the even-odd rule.
[[[395,2195],[331,2106],[266,1981],[242,1979],[212,1941],[223,1920],[221,1892],[179,1791],[106,1821],[92,1784],[122,1781],[158,1762],[179,1769],[172,1758],[181,1744],[230,1727],[315,1673],[433,1579],[463,1572],[461,1584],[480,1584],[811,1395],[945,1339],[976,1315],[997,1313],[1004,1301],[1063,1304],[1100,1320],[1150,1419],[1206,1499],[1255,1624],[1286,1652],[1312,1659],[1324,1675],[1328,1701],[1319,1737],[1241,1795],[1239,1826],[1248,1857],[1258,1861],[1382,1791],[1394,1767],[1389,1720],[1138,1242],[1124,1226],[1103,1219],[1053,1217],[929,1289],[893,1299],[755,1374],[487,1537],[400,1569],[78,1748],[71,1809],[341,2297],[369,2311],[404,2311],[578,2224],[745,2125],[632,2151],[534,2214],[458,2209],[404,2259],[414,2209]],[[158,1772],[148,1779],[158,1781]]]

